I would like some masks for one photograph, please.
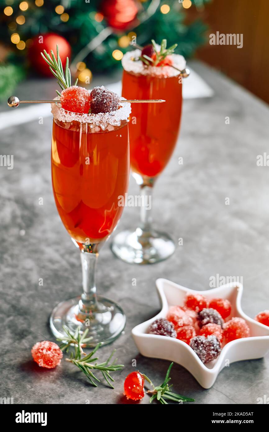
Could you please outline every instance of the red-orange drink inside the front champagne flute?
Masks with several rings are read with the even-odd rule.
[[[79,243],[99,243],[114,230],[123,211],[118,196],[129,184],[128,123],[106,130],[54,118],[51,174],[63,225]]]

